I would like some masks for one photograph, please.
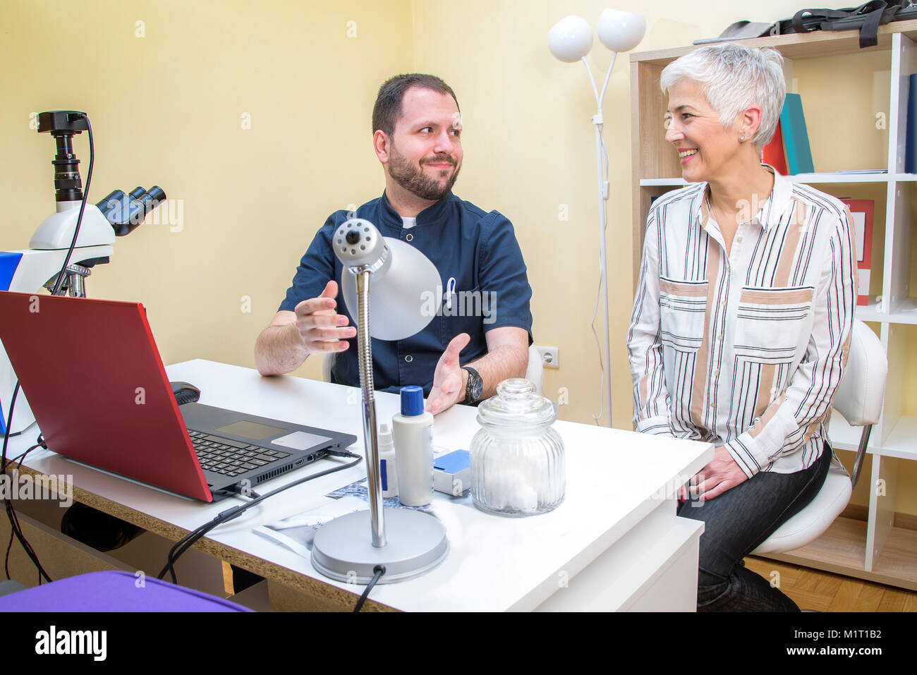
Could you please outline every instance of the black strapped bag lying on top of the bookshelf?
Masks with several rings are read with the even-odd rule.
[[[859,28],[862,49],[878,45],[879,26],[910,18],[917,18],[917,5],[911,0],[871,0],[846,9],[801,9],[792,18],[778,21],[774,35]]]

